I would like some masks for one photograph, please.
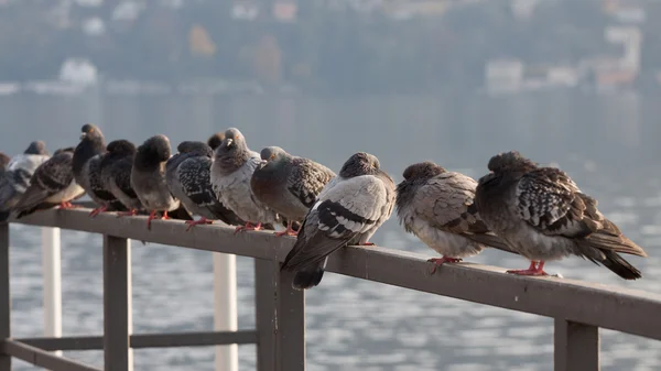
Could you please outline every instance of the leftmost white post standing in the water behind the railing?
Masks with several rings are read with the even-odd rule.
[[[59,228],[42,228],[44,336],[62,337],[62,254]],[[62,356],[62,351],[54,352]]]

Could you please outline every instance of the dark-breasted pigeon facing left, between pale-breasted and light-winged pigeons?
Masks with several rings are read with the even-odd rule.
[[[312,160],[292,156],[279,146],[267,146],[260,155],[262,163],[250,179],[252,193],[259,201],[286,218],[286,230],[275,236],[296,236],[292,223],[305,218],[335,173]]]

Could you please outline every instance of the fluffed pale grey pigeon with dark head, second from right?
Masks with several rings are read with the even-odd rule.
[[[477,182],[472,177],[433,162],[413,164],[403,176],[397,186],[397,214],[407,232],[443,255],[429,260],[435,263],[432,273],[436,266],[476,255],[487,245],[513,252],[477,212]]]

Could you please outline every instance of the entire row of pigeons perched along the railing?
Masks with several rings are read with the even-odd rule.
[[[434,271],[489,247],[530,260],[528,269],[508,273],[545,275],[546,261],[573,254],[635,280],[640,271],[619,253],[647,257],[567,174],[516,151],[491,157],[479,182],[422,162],[408,166],[397,186],[371,154],[351,155],[336,175],[278,146],[253,152],[235,128],[206,143],[182,142],[172,155],[164,135],[138,148],[126,140],[106,145],[99,128],[85,124],[75,149],[51,157],[34,142],[11,161],[0,159],[3,220],[10,212],[21,218],[73,207],[86,193],[98,205],[91,217],[149,212],[148,228],[183,210],[188,229],[213,220],[237,226],[235,233],[284,229],[277,234],[297,236],[282,266],[295,272],[295,288],[318,285],[337,249],[372,244],[394,208],[408,232],[442,254],[430,260]]]

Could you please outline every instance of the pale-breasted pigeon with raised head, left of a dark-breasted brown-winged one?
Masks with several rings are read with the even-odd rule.
[[[246,138],[238,129],[225,131],[225,140],[214,154],[210,178],[223,205],[246,220],[246,225],[237,227],[235,233],[260,230],[262,223],[280,221],[278,214],[258,200],[250,188],[250,178],[260,163],[259,154],[248,149]]]

